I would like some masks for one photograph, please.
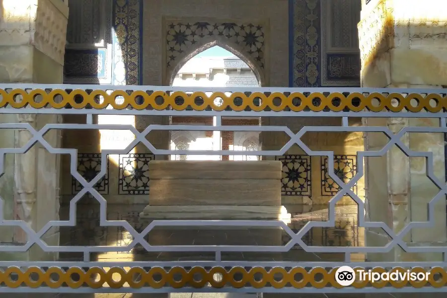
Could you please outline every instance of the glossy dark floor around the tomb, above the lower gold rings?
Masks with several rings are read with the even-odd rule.
[[[137,231],[142,231],[147,224],[139,219],[145,206],[140,205],[109,205],[107,219],[127,221]],[[292,214],[288,224],[295,232],[309,221],[327,221],[326,206],[286,206]],[[99,205],[78,205],[77,224],[75,227],[61,227],[61,245],[107,245],[126,246],[132,241],[132,235],[123,227],[100,226]],[[306,210],[307,209],[307,210]],[[68,206],[61,208],[61,220],[68,219]],[[357,225],[357,206],[336,207],[334,227],[318,227],[310,229],[302,238],[309,246],[364,246],[364,228]],[[268,234],[266,229],[243,227],[210,231],[204,228],[184,229],[175,227],[155,228],[149,232],[147,240],[151,245],[272,245],[269,237],[259,237]],[[285,245],[290,236],[282,233],[281,243]],[[109,252],[92,256],[92,260],[212,260],[214,253],[165,253],[147,252],[142,247],[135,247],[130,252]],[[301,247],[295,246],[287,253],[223,253],[223,260],[257,260],[257,261],[319,261],[342,260],[338,253],[307,253]],[[81,254],[61,254],[63,259],[79,259]],[[361,254],[353,254],[353,260],[363,260]]]

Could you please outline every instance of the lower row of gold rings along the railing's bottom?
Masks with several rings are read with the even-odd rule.
[[[84,271],[79,267],[70,267],[68,270],[50,267],[48,270],[43,271],[39,267],[29,267],[26,271],[22,271],[18,267],[9,267],[4,271],[0,271],[0,283],[4,283],[8,288],[18,288],[23,283],[30,288],[38,288],[45,284],[52,289],[60,288],[63,284],[73,289],[79,288],[83,284],[87,284],[90,288],[98,289],[102,288],[104,283],[107,283],[113,289],[122,287],[138,289],[146,285],[154,289],[166,286],[176,289],[185,286],[203,288],[208,283],[214,288],[222,288],[225,285],[243,288],[250,284],[253,288],[259,289],[270,284],[272,287],[280,289],[290,284],[296,289],[301,289],[309,283],[317,289],[325,287],[342,288],[335,280],[337,269],[326,270],[322,267],[314,267],[307,271],[303,267],[295,267],[288,271],[282,267],[274,267],[271,270],[266,270],[263,267],[253,267],[247,271],[243,267],[232,267],[227,271],[223,267],[213,267],[211,270],[206,270],[203,267],[192,267],[190,270],[186,270],[183,267],[172,267],[170,270],[152,267],[149,271],[146,271],[141,267],[132,267],[130,270],[120,267],[112,267],[109,270],[91,267]],[[358,269],[363,268],[354,268],[355,271]],[[377,267],[373,268],[372,271],[384,273],[405,272],[406,270],[397,267],[386,271]],[[427,271],[416,267],[412,268],[410,272],[425,273]],[[73,274],[76,274],[78,279],[74,279]],[[436,274],[439,274],[441,278],[435,280]],[[299,276],[298,280],[297,275]],[[316,275],[319,275],[320,278],[316,279]],[[12,279],[12,276],[16,278]],[[125,285],[126,283],[127,285]],[[378,281],[370,283],[369,281],[360,282],[357,280],[352,286],[364,288],[367,285],[371,285],[374,288],[383,288],[388,283],[395,288],[402,288],[408,284],[414,288],[421,288],[426,286],[427,283],[432,287],[441,288],[447,284],[447,272],[442,267],[434,267],[430,270],[428,281]]]

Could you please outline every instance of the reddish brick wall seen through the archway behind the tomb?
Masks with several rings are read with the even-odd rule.
[[[172,116],[172,124],[204,124],[213,125],[213,117],[188,117],[188,116]],[[222,125],[259,125],[259,119],[222,119]],[[207,138],[213,137],[213,131],[206,132]],[[230,145],[234,144],[234,133],[232,131],[221,132],[222,150],[229,150]],[[222,160],[229,160],[228,155],[223,155]]]

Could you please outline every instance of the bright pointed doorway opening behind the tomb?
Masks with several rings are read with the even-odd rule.
[[[254,71],[242,59],[213,46],[189,59],[172,80],[175,87],[259,87]],[[221,99],[222,100],[222,99]],[[173,125],[210,126],[209,131],[172,131],[172,150],[258,150],[259,132],[213,131],[216,116],[173,116]],[[222,125],[260,125],[259,117],[223,117]],[[253,160],[252,155],[171,155],[171,160]]]

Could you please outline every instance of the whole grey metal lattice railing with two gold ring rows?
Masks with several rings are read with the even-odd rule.
[[[437,90],[360,88],[342,90],[330,88],[198,89],[109,85],[0,85],[0,117],[3,117],[0,121],[0,132],[2,130],[16,130],[19,136],[26,136],[21,139],[21,143],[19,142],[15,146],[0,147],[0,179],[10,174],[7,172],[10,170],[10,167],[8,167],[10,163],[8,163],[6,155],[28,154],[33,146],[39,146],[51,154],[69,156],[68,166],[65,168],[66,172],[61,172],[61,175],[69,176],[68,172],[70,172],[70,175],[74,178],[73,181],[72,179],[69,181],[70,194],[73,197],[70,197],[67,219],[50,219],[40,226],[36,225],[33,219],[30,219],[32,216],[26,219],[10,219],[3,215],[7,211],[5,202],[15,200],[15,198],[6,197],[8,194],[5,195],[5,192],[0,192],[2,196],[0,201],[0,226],[19,228],[26,235],[23,238],[22,245],[17,245],[16,242],[13,242],[12,245],[11,243],[1,242],[0,254],[29,252],[29,256],[31,256],[26,261],[6,261],[5,258],[0,261],[0,266],[3,268],[0,273],[0,292],[151,293],[175,291],[229,292],[236,291],[235,289],[240,289],[237,290],[238,292],[243,290],[247,293],[404,292],[410,291],[408,289],[413,292],[445,291],[447,289],[445,287],[447,273],[442,267],[446,267],[447,263],[443,259],[433,262],[366,262],[363,259],[356,262],[353,258],[355,254],[386,254],[393,249],[399,249],[405,253],[447,253],[447,245],[440,245],[439,243],[438,245],[432,245],[433,243],[427,241],[412,245],[412,241],[407,239],[407,235],[412,229],[435,226],[436,204],[445,200],[447,186],[445,180],[443,180],[444,177],[440,178],[437,172],[435,173],[434,153],[432,151],[410,149],[408,144],[403,141],[410,133],[446,134],[446,109],[447,94],[437,93]],[[5,117],[8,114],[19,115],[17,118],[19,121],[3,121],[3,119],[12,119]],[[71,123],[50,123],[50,121],[42,120],[45,122],[42,123],[36,121],[33,115],[85,116],[85,120],[82,118],[84,122],[81,122],[80,118],[76,118],[78,122],[73,121]],[[101,124],[94,120],[96,115],[206,116],[215,117],[215,122],[210,127],[203,124],[153,124],[154,120],[139,124],[139,127],[137,127],[137,125],[119,122]],[[31,120],[26,120],[26,117]],[[283,122],[272,120],[269,125],[241,126],[223,125],[225,117],[262,117],[262,120],[270,117],[291,117],[292,120],[287,118],[289,120]],[[302,118],[307,120],[301,121],[299,120],[301,117],[319,117],[318,119],[327,119],[327,121],[309,121],[309,118]],[[332,121],[330,119],[334,118],[338,119],[338,125],[327,124]],[[387,125],[350,125],[353,119],[359,118],[436,119],[439,120],[439,125],[438,127],[402,125],[397,131]],[[261,123],[264,124],[265,122],[261,121]],[[95,153],[80,152],[81,149],[79,148],[61,148],[50,144],[52,142],[48,141],[47,136],[54,130],[64,130],[64,132],[127,131],[133,137],[121,149],[100,149],[100,152]],[[296,196],[301,199],[302,197],[312,199],[315,197],[315,190],[320,197],[326,197],[324,200],[327,203],[327,218],[319,221],[310,220],[305,224],[297,224],[299,217],[294,219],[295,223],[292,224],[271,220],[157,220],[147,225],[140,224],[138,227],[135,223],[123,220],[123,217],[116,220],[110,219],[108,212],[113,208],[110,204],[107,206],[107,202],[113,199],[110,195],[112,189],[111,177],[113,175],[119,177],[119,181],[113,186],[113,190],[117,194],[129,195],[132,198],[138,194],[150,194],[147,188],[149,176],[141,177],[141,173],[139,174],[141,181],[143,181],[143,178],[146,179],[144,182],[140,182],[143,185],[140,185],[141,188],[138,188],[137,184],[137,186],[131,185],[131,180],[135,178],[135,173],[138,172],[137,167],[133,166],[135,162],[140,162],[143,167],[153,159],[152,156],[158,155],[237,156],[247,154],[244,150],[234,148],[203,150],[159,148],[156,144],[158,139],[150,138],[149,134],[163,131],[231,131],[265,134],[261,148],[250,151],[250,154],[283,162],[282,194],[284,197]],[[350,134],[355,132],[361,134],[378,133],[385,137],[386,142],[378,150],[358,149],[356,154],[352,154],[337,152],[334,149],[325,150],[324,146],[317,148],[308,145],[308,142],[305,141],[306,134]],[[286,141],[278,148],[269,147],[268,136],[271,134],[283,134],[287,136],[284,139]],[[85,144],[90,142],[89,140],[83,141],[82,134],[78,134],[78,136],[81,142],[85,142]],[[5,144],[7,143],[5,142]],[[150,153],[131,152],[137,145],[144,147]],[[294,148],[299,148],[300,151],[298,153],[291,152]],[[428,221],[410,222],[401,230],[394,230],[384,222],[367,220],[365,217],[365,202],[359,197],[358,193],[358,189],[360,189],[359,181],[363,178],[365,172],[364,160],[384,156],[393,148],[400,149],[408,157],[424,158],[426,175],[438,189],[436,196],[428,201]],[[112,158],[111,156],[118,156],[114,172],[109,169],[113,161],[109,160],[109,158]],[[38,161],[36,162],[38,163]],[[335,164],[337,162],[338,165]],[[340,165],[340,162],[343,164]],[[316,180],[311,177],[312,167],[315,167],[317,171],[317,174],[314,175]],[[334,169],[334,171],[331,169]],[[80,174],[80,171],[83,171],[84,174]],[[88,179],[85,178],[87,172],[90,175]],[[130,176],[129,174],[123,174],[124,172],[135,173],[134,176]],[[17,175],[18,180],[20,180],[20,177],[26,177],[26,175],[20,176],[21,173]],[[315,181],[317,185],[313,186]],[[101,244],[101,237],[106,237],[107,232],[97,237],[99,244],[94,245],[73,243],[75,241],[72,241],[72,243],[70,241],[68,243],[60,241],[56,243],[57,245],[52,245],[44,240],[45,235],[50,230],[62,230],[63,227],[76,226],[76,214],[79,212],[77,204],[85,197],[98,205],[98,210],[92,211],[92,213],[97,213],[99,219],[90,228],[103,227],[119,230],[121,234],[126,233],[127,241],[121,241],[120,245],[117,245],[116,242],[112,245],[110,241]],[[356,228],[382,229],[389,239],[386,245],[366,246],[365,243],[354,244],[353,241],[347,245],[337,241],[322,245],[306,240],[306,235],[311,230],[326,229],[324,233],[327,233],[327,229],[330,228],[342,229],[342,227],[337,227],[337,203],[344,197],[350,197],[357,204],[356,218],[351,221],[355,223],[351,224]],[[37,197],[36,204],[39,204],[39,199],[41,198]],[[373,198],[369,199],[372,200]],[[129,202],[130,205],[133,204],[133,201]],[[222,243],[153,245],[148,240],[148,234],[154,232],[160,226],[169,229],[184,226],[194,228],[219,226],[228,229],[227,235],[231,235],[230,230],[234,230],[235,227],[281,228],[288,241],[277,246],[259,245],[259,243],[254,245],[226,245]],[[321,236],[323,239],[329,237],[324,235],[326,234]],[[210,241],[212,242],[212,240]],[[301,254],[295,254],[293,257],[287,254],[292,248],[297,247],[299,247],[299,253]],[[33,258],[33,249],[54,253],[53,260],[30,261]],[[116,256],[108,257],[110,253],[118,254],[129,251],[134,253],[132,260],[123,260]],[[139,251],[144,252],[144,254],[138,254]],[[172,258],[163,259],[163,253],[180,253],[181,255],[176,257],[175,260]],[[206,257],[204,257],[205,259],[202,257],[195,259],[195,256],[189,255],[192,253],[200,253],[202,257],[205,255]],[[263,253],[275,254],[276,257],[267,258],[262,255]],[[304,257],[306,254],[317,256],[322,253],[337,254],[338,262],[332,258],[325,261],[321,258],[305,260],[306,257]],[[253,256],[246,257],[250,254],[253,254]],[[65,257],[65,255],[68,255],[68,257]],[[80,255],[81,259],[71,259],[74,255]],[[151,257],[152,255],[156,255],[156,257]],[[187,259],[184,257],[186,255],[188,255]],[[241,255],[243,258],[240,257]],[[21,259],[23,260],[23,258]],[[411,282],[396,286],[393,282],[390,282],[394,288],[386,288],[386,291],[382,289],[386,286],[386,283],[356,282],[350,287],[342,287],[335,281],[335,271],[336,268],[344,265],[385,268],[373,269],[377,272],[391,270],[395,266],[411,268],[411,270],[416,271],[419,270],[417,268],[424,267],[431,270],[432,278],[422,286]],[[297,274],[302,276],[301,281],[297,280]],[[441,274],[442,279],[436,276],[437,274]],[[115,275],[119,278],[112,278]],[[197,275],[200,276],[199,279],[196,278]],[[324,281],[318,282],[317,275],[322,275]],[[208,284],[209,286],[207,286]],[[37,291],[36,289],[39,288],[45,288],[45,290]]]

